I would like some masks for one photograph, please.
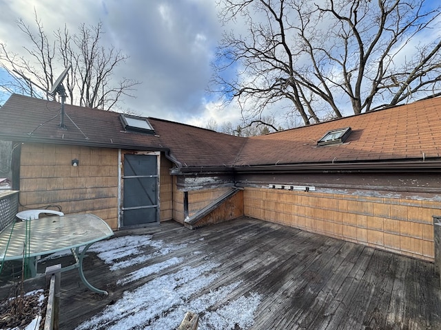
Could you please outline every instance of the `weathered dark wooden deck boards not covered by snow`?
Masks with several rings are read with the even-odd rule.
[[[151,234],[152,240],[175,247],[168,254],[155,254],[152,246],[145,247],[143,253],[152,256],[148,265],[172,258],[181,262],[117,285],[117,280],[146,264],[110,271],[109,265],[90,253],[85,259],[86,277],[110,294],[93,294],[76,272],[63,273],[60,329],[75,329],[117,303],[124,292],[154,278],[206,263],[217,265],[218,276],[186,303],[241,281],[216,298],[209,310],[258,294],[254,324],[247,329],[441,329],[441,290],[432,263],[249,218],[198,230],[167,221],[160,227],[116,236],[125,234]],[[149,299],[146,295],[145,300]]]

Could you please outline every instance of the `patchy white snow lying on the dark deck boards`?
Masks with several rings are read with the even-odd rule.
[[[151,252],[145,254],[144,248],[150,247]],[[134,264],[146,263],[154,256],[167,255],[173,251],[185,249],[185,244],[172,245],[161,240],[152,239],[151,235],[121,236],[92,245],[89,251],[96,252],[100,259],[109,264],[110,270],[130,267]],[[201,254],[203,252],[195,252]],[[124,292],[123,297],[113,305],[107,306],[103,312],[85,320],[76,329],[160,329],[174,330],[181,323],[187,311],[199,315],[198,329],[247,329],[253,325],[254,312],[261,297],[257,292],[248,296],[240,296],[226,305],[217,306],[236,287],[243,285],[240,281],[217,287],[205,294],[204,289],[210,287],[220,275],[220,265],[210,261],[197,267],[176,268],[184,264],[185,256],[172,257],[161,263],[142,267],[124,278],[117,285],[126,285],[151,274],[157,274],[169,267],[178,269],[175,272],[158,276],[134,291]],[[205,290],[207,291],[207,290]],[[213,308],[216,306],[215,308]],[[238,328],[239,327],[239,328]]]

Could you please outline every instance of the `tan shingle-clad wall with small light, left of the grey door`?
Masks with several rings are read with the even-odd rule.
[[[79,159],[79,166],[72,166],[72,159]],[[20,203],[58,205],[65,214],[93,212],[118,228],[118,149],[23,144]]]

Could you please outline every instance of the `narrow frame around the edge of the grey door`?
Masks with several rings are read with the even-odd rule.
[[[156,173],[158,175],[158,180],[156,182],[157,189],[157,201],[158,206],[156,207],[156,221],[151,223],[143,223],[140,225],[126,225],[123,226],[123,194],[124,194],[124,177],[123,177],[123,166],[124,166],[124,155],[154,155],[156,156]],[[161,214],[161,152],[160,151],[127,151],[127,150],[121,150],[119,149],[119,155],[118,155],[118,206],[119,206],[119,212],[118,212],[118,228],[142,228],[147,226],[155,226],[159,225],[161,223],[160,214]]]

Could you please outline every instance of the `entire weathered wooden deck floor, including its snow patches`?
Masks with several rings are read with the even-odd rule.
[[[131,256],[115,252],[121,255],[113,266],[93,252],[85,258],[88,281],[109,296],[85,289],[76,272],[62,274],[60,329],[76,329],[102,311],[108,320],[81,329],[130,329],[132,321],[176,329],[185,311],[203,304],[205,329],[222,329],[214,323],[228,313],[238,321],[225,329],[441,329],[432,263],[246,217],[198,230],[167,221],[111,240],[130,234],[152,244]],[[135,258],[139,263],[114,266]],[[124,310],[134,293],[139,300]],[[247,311],[252,321],[241,323]]]

